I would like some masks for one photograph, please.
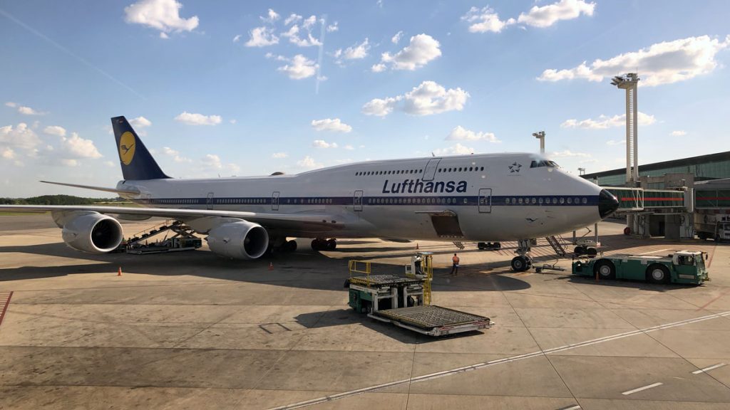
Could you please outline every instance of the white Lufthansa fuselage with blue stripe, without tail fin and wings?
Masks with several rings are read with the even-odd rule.
[[[542,162],[541,162],[542,161]],[[119,182],[147,206],[282,214],[344,221],[331,232],[274,236],[505,241],[598,222],[601,188],[531,154],[380,160],[296,175]],[[264,225],[265,226],[265,225]]]

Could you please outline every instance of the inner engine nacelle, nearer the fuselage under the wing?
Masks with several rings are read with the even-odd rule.
[[[208,247],[216,255],[233,259],[256,259],[269,247],[269,233],[258,223],[229,222],[208,232]]]

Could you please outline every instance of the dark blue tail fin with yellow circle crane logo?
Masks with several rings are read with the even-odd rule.
[[[147,151],[147,147],[134,132],[125,117],[113,117],[112,128],[117,140],[119,163],[124,179],[164,179],[169,178]]]

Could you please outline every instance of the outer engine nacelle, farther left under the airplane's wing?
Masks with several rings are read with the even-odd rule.
[[[69,247],[89,253],[111,252],[124,239],[117,220],[96,212],[70,217],[61,234]]]

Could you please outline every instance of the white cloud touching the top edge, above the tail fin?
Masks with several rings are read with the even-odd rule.
[[[163,34],[180,31],[193,31],[198,26],[198,16],[180,18],[183,4],[176,0],[141,0],[124,7],[127,23],[142,24],[156,28]],[[167,38],[166,34],[162,38]]]

